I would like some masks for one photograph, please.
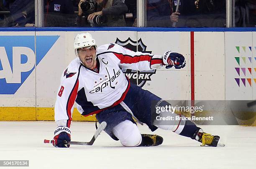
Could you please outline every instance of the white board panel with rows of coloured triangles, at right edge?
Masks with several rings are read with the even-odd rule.
[[[256,100],[255,33],[227,32],[225,37],[226,99]]]

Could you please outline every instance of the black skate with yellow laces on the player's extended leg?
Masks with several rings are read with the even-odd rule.
[[[205,133],[202,129],[198,128],[195,134],[191,137],[202,143],[201,146],[213,146],[216,147],[220,140],[220,136],[212,136],[211,134]],[[225,146],[224,144],[219,143],[220,146]]]

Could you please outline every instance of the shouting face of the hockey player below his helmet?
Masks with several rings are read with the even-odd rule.
[[[77,49],[78,57],[86,68],[93,69],[96,66],[96,50],[94,46],[90,48]]]

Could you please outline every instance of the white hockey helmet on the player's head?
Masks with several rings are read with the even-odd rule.
[[[95,46],[95,49],[97,49],[95,40],[92,38],[92,35],[90,33],[77,34],[77,36],[74,39],[74,50],[77,57],[77,49],[90,48],[91,46]]]

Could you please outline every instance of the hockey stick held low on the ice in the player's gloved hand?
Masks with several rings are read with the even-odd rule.
[[[101,131],[104,130],[107,126],[107,123],[105,121],[103,121],[100,126],[98,127],[98,129],[95,131],[94,136],[92,137],[90,142],[81,142],[81,141],[65,141],[64,144],[75,144],[75,145],[89,145],[91,146],[95,139],[97,138],[97,136],[100,135]],[[44,139],[44,143],[51,143],[52,144],[53,140],[46,140]]]

